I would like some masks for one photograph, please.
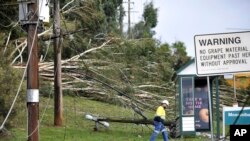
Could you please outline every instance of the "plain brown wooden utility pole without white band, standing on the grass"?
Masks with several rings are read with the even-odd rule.
[[[61,79],[61,26],[60,26],[60,1],[54,0],[54,125],[62,126],[62,79]]]

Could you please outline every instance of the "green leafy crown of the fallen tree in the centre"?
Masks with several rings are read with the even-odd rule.
[[[158,41],[154,39],[120,39],[109,44],[109,47],[85,55],[84,59],[98,62],[85,62],[90,70],[104,76],[93,74],[95,78],[116,86],[132,97],[140,93],[141,89],[162,96],[174,94],[155,87],[141,89],[135,87],[140,85],[168,87],[166,84],[172,82],[174,70],[170,61],[172,59],[170,48],[167,44],[159,46]],[[102,86],[101,89],[107,90],[108,88]],[[171,86],[170,89],[174,90]],[[116,92],[109,91],[108,93],[115,94]],[[116,96],[111,97],[111,99],[116,98]],[[151,100],[147,103],[151,103]]]

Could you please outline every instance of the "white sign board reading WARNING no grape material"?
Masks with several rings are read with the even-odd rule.
[[[196,35],[197,75],[250,71],[250,32]]]

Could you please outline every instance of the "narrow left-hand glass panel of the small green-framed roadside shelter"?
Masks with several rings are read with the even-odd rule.
[[[194,87],[192,77],[183,77],[181,80],[182,114],[194,115]]]

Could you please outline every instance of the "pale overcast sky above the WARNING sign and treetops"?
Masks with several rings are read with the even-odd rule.
[[[131,0],[133,23],[142,20],[151,0]],[[250,0],[152,0],[158,8],[155,38],[169,44],[182,41],[195,56],[194,35],[250,31]],[[127,4],[125,3],[124,6]],[[126,7],[125,7],[126,8]],[[127,23],[127,17],[124,19]]]

